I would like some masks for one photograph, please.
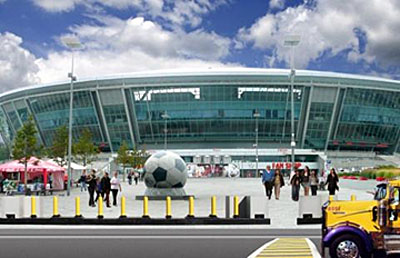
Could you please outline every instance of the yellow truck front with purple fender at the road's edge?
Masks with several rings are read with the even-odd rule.
[[[371,201],[329,200],[322,207],[322,256],[400,257],[399,212],[400,180],[378,184]]]

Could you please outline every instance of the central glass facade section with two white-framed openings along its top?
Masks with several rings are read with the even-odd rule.
[[[260,141],[290,141],[290,103],[287,87],[139,88],[133,90],[142,144],[162,142],[250,141],[258,118]],[[295,122],[302,89],[295,91]]]

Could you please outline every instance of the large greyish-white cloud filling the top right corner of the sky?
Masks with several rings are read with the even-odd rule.
[[[324,53],[336,55],[349,51],[348,60],[378,62],[384,66],[400,61],[400,3],[397,0],[319,0],[315,5],[305,4],[287,8],[276,14],[267,13],[251,27],[241,28],[237,40],[255,48],[276,47],[276,61],[288,61],[289,51],[284,38],[301,35],[296,48],[296,65],[305,67]],[[366,35],[365,53],[359,52],[355,30]],[[237,44],[240,46],[240,44]]]

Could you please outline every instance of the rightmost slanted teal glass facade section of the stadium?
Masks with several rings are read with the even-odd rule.
[[[349,88],[337,145],[344,149],[393,149],[399,137],[400,93]]]

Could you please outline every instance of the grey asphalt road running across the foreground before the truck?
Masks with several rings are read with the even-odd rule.
[[[0,227],[1,258],[246,258],[279,237],[309,238],[319,229],[267,227]]]

